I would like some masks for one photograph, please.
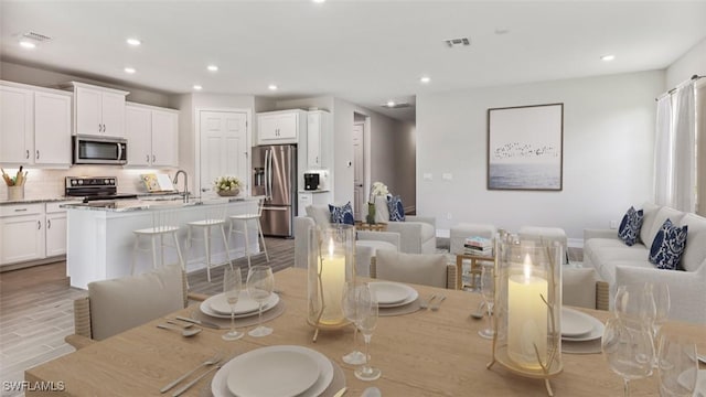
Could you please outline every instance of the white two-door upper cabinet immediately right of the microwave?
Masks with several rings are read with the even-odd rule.
[[[129,167],[179,165],[179,111],[128,103],[125,122]]]

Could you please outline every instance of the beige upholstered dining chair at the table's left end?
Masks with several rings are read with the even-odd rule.
[[[74,300],[74,334],[65,337],[76,350],[186,307],[186,273],[169,265],[138,276],[88,283],[88,296]]]

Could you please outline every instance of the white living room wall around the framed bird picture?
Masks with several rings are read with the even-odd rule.
[[[643,72],[419,95],[417,213],[439,229],[558,226],[582,239],[584,228],[607,228],[652,197],[654,97],[664,87],[664,72]],[[563,191],[486,190],[488,109],[553,103],[564,103]]]

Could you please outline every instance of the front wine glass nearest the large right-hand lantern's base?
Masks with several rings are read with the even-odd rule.
[[[619,318],[608,320],[601,350],[610,369],[623,379],[623,396],[630,396],[630,380],[652,375],[652,332],[642,322]]]

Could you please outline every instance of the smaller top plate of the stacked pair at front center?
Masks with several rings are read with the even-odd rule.
[[[306,353],[258,348],[233,360],[228,390],[238,397],[295,397],[319,379],[319,364]]]

